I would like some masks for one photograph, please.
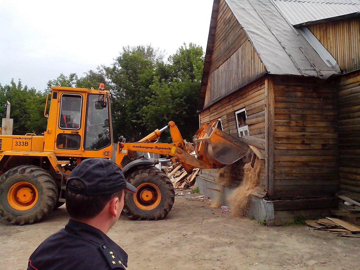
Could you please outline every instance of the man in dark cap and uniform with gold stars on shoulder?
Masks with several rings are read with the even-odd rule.
[[[120,216],[126,191],[136,188],[116,163],[82,161],[66,182],[68,224],[36,248],[27,269],[125,269],[126,252],[106,234]]]

